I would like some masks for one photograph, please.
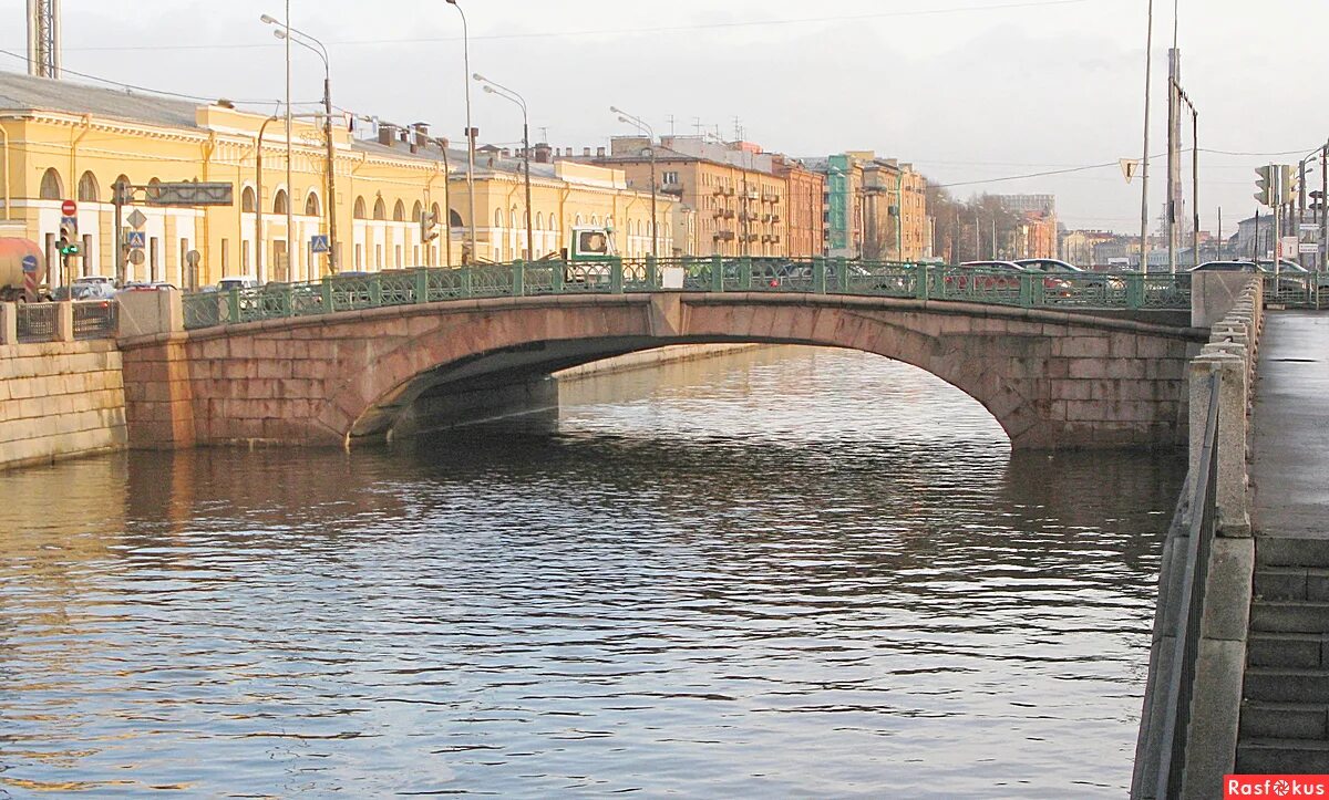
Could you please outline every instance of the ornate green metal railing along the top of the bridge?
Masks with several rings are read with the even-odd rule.
[[[1183,310],[1191,276],[983,271],[832,258],[614,258],[347,274],[312,283],[185,295],[187,330],[470,298],[658,291],[791,292],[989,303],[1018,308]]]

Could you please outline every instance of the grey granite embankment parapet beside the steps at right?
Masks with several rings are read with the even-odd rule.
[[[1180,797],[1209,797],[1224,775],[1235,771],[1241,684],[1245,675],[1247,638],[1255,573],[1255,541],[1251,538],[1249,454],[1251,400],[1264,323],[1264,291],[1259,278],[1243,274],[1197,276],[1196,295],[1205,298],[1212,324],[1209,343],[1188,367],[1189,384],[1189,474],[1163,548],[1159,574],[1159,602],[1154,618],[1154,642],[1140,735],[1136,744],[1131,797],[1160,800],[1156,776],[1162,760],[1171,752],[1166,730],[1172,723],[1185,742],[1184,783]],[[1196,303],[1199,308],[1201,303]],[[1213,379],[1217,379],[1217,383]],[[1204,514],[1195,498],[1201,480],[1201,452],[1205,445],[1208,409],[1217,391],[1217,429],[1213,473],[1213,540],[1208,558],[1195,569],[1195,593],[1203,593],[1200,614],[1187,630],[1187,646],[1195,654],[1195,672],[1176,662],[1177,631],[1193,599],[1183,586],[1192,569],[1187,549],[1192,521]],[[1212,441],[1212,440],[1211,440]],[[1203,553],[1203,548],[1200,549]],[[1203,555],[1200,555],[1203,558]],[[1203,577],[1203,582],[1199,578]],[[1168,687],[1176,680],[1193,680],[1188,708],[1168,707]]]

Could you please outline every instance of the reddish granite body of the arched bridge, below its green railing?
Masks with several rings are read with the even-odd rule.
[[[532,387],[542,377],[610,356],[667,344],[780,343],[917,365],[978,400],[1014,448],[1041,449],[1183,443],[1185,363],[1204,338],[1043,310],[661,292],[381,308],[122,347],[138,447],[348,445],[447,424],[486,401],[494,411],[538,404]]]

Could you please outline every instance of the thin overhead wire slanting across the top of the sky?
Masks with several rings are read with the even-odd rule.
[[[820,17],[796,17],[785,20],[739,20],[732,23],[695,23],[690,25],[658,25],[651,28],[609,28],[598,31],[530,31],[524,33],[489,33],[476,35],[470,41],[505,41],[518,39],[593,39],[602,36],[633,36],[655,33],[688,33],[695,31],[720,31],[734,28],[759,28],[771,25],[815,25],[824,23],[861,23],[870,20],[900,19],[900,17],[928,17],[964,13],[985,13],[994,11],[1013,11],[1022,8],[1047,8],[1057,5],[1084,5],[1088,3],[1106,3],[1107,0],[1025,0],[1022,3],[997,3],[990,5],[954,5],[950,8],[929,8],[912,11],[881,11],[857,15],[833,15]],[[401,39],[348,39],[327,40],[330,45],[403,45],[403,44],[440,44],[461,41],[460,36],[431,36],[431,37],[401,37]],[[279,48],[278,44],[258,43],[231,43],[231,44],[163,44],[163,45],[97,45],[97,47],[66,47],[66,52],[128,52],[128,50],[202,50],[202,49],[256,49]]]

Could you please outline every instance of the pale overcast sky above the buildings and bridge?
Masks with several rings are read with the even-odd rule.
[[[1111,163],[953,191],[1054,193],[1071,227],[1138,231],[1139,182],[1127,186],[1115,162],[1143,146],[1147,0],[462,3],[472,72],[524,93],[532,136],[548,128],[552,145],[626,133],[613,104],[657,133],[692,133],[700,120],[732,138],[738,117],[768,150],[873,149],[942,183]],[[1227,234],[1255,210],[1255,166],[1297,161],[1329,137],[1329,1],[1179,3],[1201,149],[1239,153],[1201,151],[1204,225],[1221,205]],[[19,54],[25,5],[0,0],[0,48]],[[1151,215],[1163,202],[1172,39],[1172,3],[1155,5]],[[62,7],[70,70],[205,97],[283,96],[283,48],[259,23],[280,17],[282,0]],[[461,20],[443,0],[291,0],[291,24],[328,45],[336,105],[461,137]],[[318,100],[322,62],[299,49],[292,58],[295,98]],[[516,106],[478,90],[472,101],[482,140],[520,141]]]

